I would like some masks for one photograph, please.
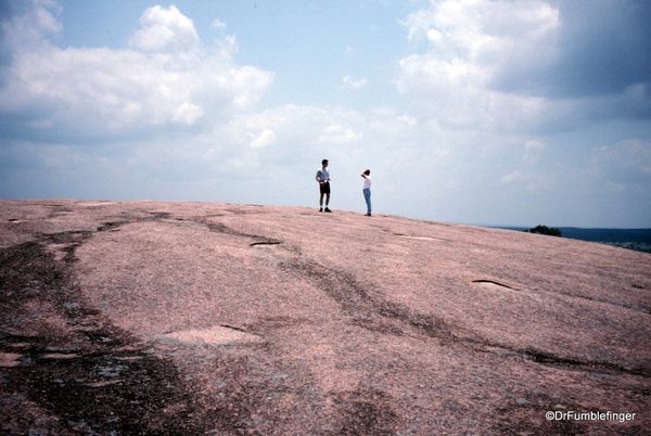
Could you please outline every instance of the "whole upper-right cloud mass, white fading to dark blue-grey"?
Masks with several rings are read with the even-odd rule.
[[[600,59],[597,48],[585,53],[577,48],[579,41],[603,35],[601,25],[608,20],[640,23],[642,18],[631,17],[630,11],[646,16],[648,23],[651,8],[636,1],[626,2],[628,9],[601,3],[608,3],[614,16],[579,15],[572,1],[432,1],[403,22],[408,38],[425,43],[426,50],[400,60],[398,91],[442,126],[456,129],[551,131],[623,115],[649,116],[651,68],[643,70],[648,56],[627,46],[651,49],[643,40],[649,31],[609,41],[609,47],[614,44],[623,53],[634,51],[631,57]],[[592,2],[585,10],[600,8]],[[582,33],[576,31],[576,21],[583,23]],[[613,53],[617,50],[609,48]],[[639,59],[642,66],[630,66],[631,59]],[[583,84],[575,74],[583,74]],[[598,85],[604,80],[617,86]]]

